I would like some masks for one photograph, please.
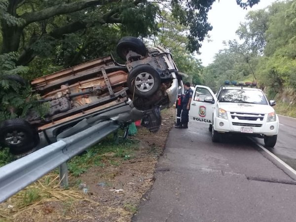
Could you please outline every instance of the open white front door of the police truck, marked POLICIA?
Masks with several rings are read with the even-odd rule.
[[[216,103],[217,97],[209,87],[196,85],[191,99],[189,120],[212,124]]]

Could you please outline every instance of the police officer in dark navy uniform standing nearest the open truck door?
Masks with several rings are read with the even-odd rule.
[[[176,126],[176,128],[188,128],[188,121],[189,121],[189,109],[190,109],[190,103],[191,98],[193,95],[193,91],[190,88],[190,83],[186,82],[185,85],[185,96],[182,101],[182,113],[181,113],[181,125]]]

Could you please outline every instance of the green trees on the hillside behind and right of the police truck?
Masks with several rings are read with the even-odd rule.
[[[242,43],[225,42],[226,48],[203,70],[203,82],[217,90],[224,80],[257,81],[268,99],[280,102],[279,113],[295,115],[295,18],[296,0],[249,12],[236,32]]]

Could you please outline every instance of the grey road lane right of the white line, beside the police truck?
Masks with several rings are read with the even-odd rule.
[[[269,150],[296,170],[296,119],[279,116],[279,120],[277,143]],[[256,139],[256,141],[264,146],[262,139]]]

